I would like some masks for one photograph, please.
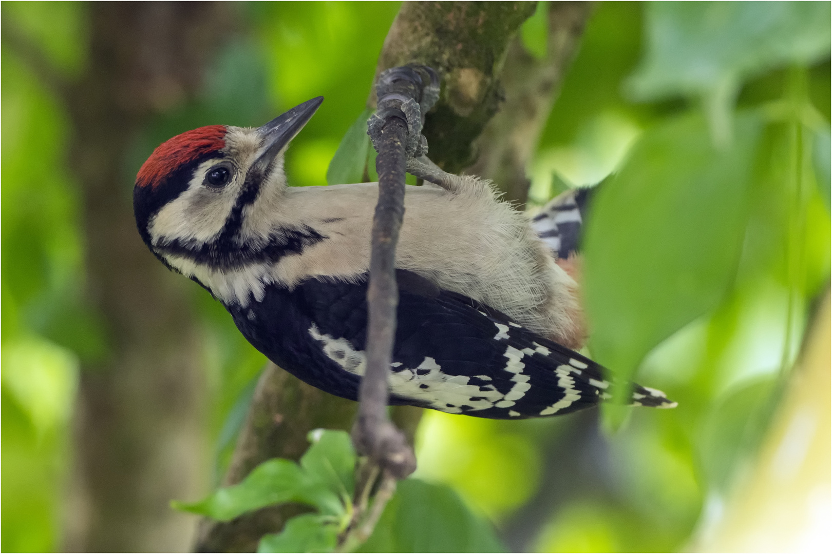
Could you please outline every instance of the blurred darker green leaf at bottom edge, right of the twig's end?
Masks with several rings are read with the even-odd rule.
[[[491,524],[451,488],[399,482],[373,535],[357,552],[507,552]]]

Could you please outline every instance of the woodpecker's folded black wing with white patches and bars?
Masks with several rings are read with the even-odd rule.
[[[607,396],[605,370],[585,356],[414,273],[399,271],[398,277],[391,403],[513,419],[568,414]],[[364,372],[365,280],[310,279],[293,295],[308,322],[310,348],[323,354],[312,357],[319,357],[318,365],[328,360],[326,371],[339,374],[324,379],[341,387],[329,392],[353,398]],[[302,368],[293,373],[305,379]],[[321,386],[320,378],[314,381]],[[634,391],[634,403],[672,405],[659,391],[638,385]]]

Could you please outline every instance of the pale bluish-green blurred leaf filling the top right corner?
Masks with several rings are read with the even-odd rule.
[[[705,94],[829,56],[830,2],[649,2],[637,100]]]

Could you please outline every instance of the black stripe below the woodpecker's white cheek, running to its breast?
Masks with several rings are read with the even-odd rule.
[[[227,224],[226,224],[227,227]],[[179,239],[157,244],[156,252],[174,256],[187,257],[194,262],[204,264],[212,269],[233,269],[251,263],[277,262],[284,256],[300,254],[304,248],[320,243],[328,237],[318,233],[309,226],[300,228],[278,228],[260,245],[240,243],[235,236],[226,234],[225,229],[220,238],[210,243],[183,243]]]

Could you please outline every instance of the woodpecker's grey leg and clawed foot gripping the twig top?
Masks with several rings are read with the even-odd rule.
[[[395,90],[402,86],[402,81],[414,89],[414,96],[418,102],[407,94]],[[408,139],[405,145],[407,154],[407,172],[429,183],[438,184],[443,189],[454,188],[456,175],[446,173],[428,159],[428,140],[422,135],[424,116],[439,99],[439,79],[436,71],[428,66],[394,67],[379,77],[379,106],[384,101],[394,100],[397,107],[404,114],[408,124]],[[389,91],[384,94],[385,91]],[[381,128],[388,117],[388,109],[380,107],[379,111],[370,116],[367,134],[373,141],[373,147],[379,150]]]

